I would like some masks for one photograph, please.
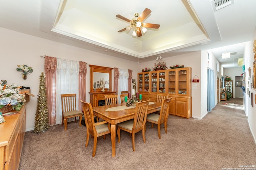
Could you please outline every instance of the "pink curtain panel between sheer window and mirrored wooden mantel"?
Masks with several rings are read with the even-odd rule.
[[[83,110],[81,100],[86,101],[86,62],[79,61],[79,82],[78,82],[78,108],[80,111]]]

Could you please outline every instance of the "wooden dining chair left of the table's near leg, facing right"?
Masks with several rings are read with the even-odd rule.
[[[93,151],[92,151],[92,157],[96,154],[96,146],[97,146],[97,140],[99,136],[103,136],[104,139],[106,139],[106,134],[110,133],[110,124],[106,121],[101,122],[94,122],[94,115],[92,111],[92,105],[91,103],[86,103],[81,100],[83,110],[84,110],[84,121],[87,128],[86,133],[86,144],[85,147],[88,146],[89,143],[89,137],[90,134],[92,135],[93,140]]]

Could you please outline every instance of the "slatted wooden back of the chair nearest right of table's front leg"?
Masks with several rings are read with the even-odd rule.
[[[136,129],[140,129],[145,125],[149,101],[150,100],[147,100],[136,104],[132,130],[136,131]]]

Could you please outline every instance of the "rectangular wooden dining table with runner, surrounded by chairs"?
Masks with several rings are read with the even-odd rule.
[[[114,109],[114,107],[119,107],[125,105],[125,103],[118,103],[115,105],[105,105],[92,107],[94,115],[110,123],[110,134],[111,134],[111,143],[112,143],[112,157],[116,155],[116,125],[118,123],[134,119],[135,107],[127,107],[127,109],[119,111],[106,111],[108,108]],[[153,113],[161,110],[162,103],[159,102],[150,102],[148,105],[148,113]]]

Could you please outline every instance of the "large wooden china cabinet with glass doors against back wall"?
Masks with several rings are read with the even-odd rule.
[[[191,80],[191,67],[142,72],[138,73],[138,91],[142,100],[153,102],[158,93],[169,94],[172,97],[169,113],[191,118]]]

